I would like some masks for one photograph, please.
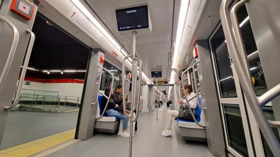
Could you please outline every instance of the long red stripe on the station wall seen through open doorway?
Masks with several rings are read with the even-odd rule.
[[[28,77],[24,78],[24,81],[32,81],[32,82],[39,82],[39,83],[76,83],[76,84],[83,84],[85,80],[83,79],[38,79],[35,77]]]

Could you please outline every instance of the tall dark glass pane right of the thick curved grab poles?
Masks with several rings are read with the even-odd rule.
[[[260,96],[267,91],[267,86],[261,60],[258,55],[256,41],[245,5],[238,9],[237,17],[240,23],[239,27],[243,37],[246,54],[248,56],[248,62],[255,92],[257,96]]]

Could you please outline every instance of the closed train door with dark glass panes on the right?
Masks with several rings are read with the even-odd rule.
[[[243,38],[254,91],[257,96],[261,96],[268,90],[267,84],[269,82],[267,82],[267,78],[271,79],[273,75],[277,78],[278,73],[273,73],[271,69],[265,71],[263,67],[264,65],[267,67],[273,66],[268,63],[268,56],[270,55],[264,49],[262,50],[266,55],[263,54],[261,56],[260,48],[262,48],[264,41],[260,39],[262,37],[259,36],[259,39],[256,37],[259,32],[253,31],[254,25],[250,21],[251,16],[254,16],[254,11],[256,11],[254,9],[256,8],[251,7],[254,9],[251,9],[251,14],[248,14],[248,6],[243,5],[237,10],[238,24]],[[258,27],[258,24],[255,21],[255,27]],[[211,46],[212,62],[215,70],[216,86],[228,151],[237,156],[273,156],[240,87],[240,81],[228,50],[221,24],[217,26],[209,38],[209,44]],[[275,58],[279,60],[278,55],[274,54],[273,59]],[[274,79],[274,86],[275,81],[279,83],[277,79]],[[273,86],[271,85],[271,87]],[[262,109],[268,120],[276,119],[277,115],[275,115],[275,110],[272,110],[271,103],[268,103]],[[277,128],[272,128],[272,130],[279,139]]]

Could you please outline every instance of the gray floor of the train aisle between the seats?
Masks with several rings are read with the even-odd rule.
[[[166,112],[141,113],[138,130],[133,137],[133,157],[137,156],[212,156],[205,143],[185,142],[173,122],[175,133],[172,137],[162,137]],[[97,134],[87,141],[79,141],[55,151],[48,156],[128,156],[129,138],[110,134]]]

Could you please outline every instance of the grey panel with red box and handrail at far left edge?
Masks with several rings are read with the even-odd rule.
[[[13,2],[0,1],[0,142],[3,139],[9,110],[15,106],[15,104],[12,106],[11,100],[24,56],[25,58],[29,56],[34,42],[34,36],[31,35],[30,30],[38,8],[37,1],[33,4],[22,1],[21,4],[12,5]],[[18,14],[10,11],[11,7]],[[27,51],[26,47],[29,47]],[[27,67],[26,63],[28,64],[24,60],[24,67]],[[16,97],[19,94],[17,92]]]

